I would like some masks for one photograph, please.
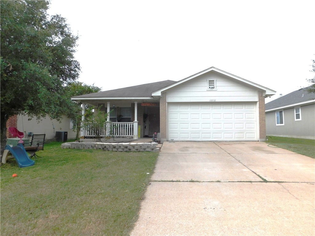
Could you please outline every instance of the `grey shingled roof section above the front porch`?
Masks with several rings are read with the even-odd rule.
[[[175,83],[172,80],[159,81],[148,84],[141,84],[131,87],[118,88],[108,91],[102,91],[98,93],[89,93],[76,97],[72,97],[72,100],[84,99],[84,98],[146,98],[152,97],[152,93],[158,89],[166,87],[170,84]]]

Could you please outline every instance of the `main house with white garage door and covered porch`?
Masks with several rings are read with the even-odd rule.
[[[101,106],[105,112],[113,110],[108,119],[114,122],[114,136],[137,139],[157,132],[161,142],[264,141],[265,98],[275,93],[211,67],[177,82],[166,80],[71,99]],[[117,115],[123,115],[122,122],[117,122]],[[92,135],[89,130],[81,132],[81,138]]]

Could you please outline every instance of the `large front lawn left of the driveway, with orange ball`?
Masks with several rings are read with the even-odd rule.
[[[60,144],[1,166],[1,235],[128,235],[158,154]]]

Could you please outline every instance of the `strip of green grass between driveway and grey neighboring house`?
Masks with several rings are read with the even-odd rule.
[[[266,141],[266,143],[315,158],[315,140],[313,139],[285,138],[276,136],[268,136],[267,138],[268,141]]]

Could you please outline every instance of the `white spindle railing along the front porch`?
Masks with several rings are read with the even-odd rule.
[[[111,122],[110,127],[106,134],[106,123],[103,129],[100,130],[100,136],[113,136],[113,137],[134,137],[134,122]],[[97,131],[96,131],[97,132]],[[84,137],[95,137],[97,134],[92,125],[89,125],[87,129],[84,129]]]

